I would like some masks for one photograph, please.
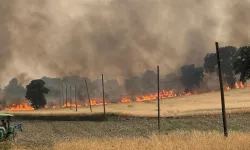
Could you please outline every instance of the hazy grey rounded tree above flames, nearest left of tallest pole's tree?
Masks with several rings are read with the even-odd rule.
[[[195,67],[194,64],[181,67],[181,83],[185,86],[185,92],[191,92],[195,87],[199,87],[204,78],[204,69]]]

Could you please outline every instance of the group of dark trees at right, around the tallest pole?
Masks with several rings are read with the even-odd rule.
[[[221,73],[223,82],[230,88],[235,88],[236,76],[239,81],[245,83],[250,78],[250,48],[242,46],[225,46],[219,49]],[[218,74],[217,54],[208,53],[204,57],[203,67],[195,67],[194,64],[181,67],[181,82],[187,91],[199,87],[206,74]]]

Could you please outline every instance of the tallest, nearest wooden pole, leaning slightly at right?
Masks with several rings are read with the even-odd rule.
[[[221,75],[221,64],[220,64],[220,52],[219,52],[219,43],[215,42],[216,46],[216,54],[217,54],[217,62],[218,62],[218,71],[219,71],[219,80],[220,80],[220,91],[221,91],[221,110],[222,110],[222,119],[223,119],[223,128],[224,128],[224,136],[228,137],[227,130],[227,118],[226,118],[226,109],[225,109],[225,98],[224,98],[224,86],[222,82]]]

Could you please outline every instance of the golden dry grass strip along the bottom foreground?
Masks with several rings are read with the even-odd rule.
[[[92,138],[58,141],[51,150],[247,150],[250,133],[230,132],[228,138],[217,131],[177,131],[148,138]],[[22,148],[13,147],[12,150]]]

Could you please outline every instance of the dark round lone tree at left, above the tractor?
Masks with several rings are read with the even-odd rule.
[[[31,102],[32,107],[35,109],[44,108],[47,104],[44,94],[48,94],[49,89],[44,85],[45,82],[38,79],[32,80],[30,84],[26,86],[27,92],[25,98]]]

